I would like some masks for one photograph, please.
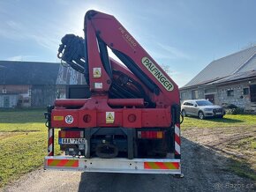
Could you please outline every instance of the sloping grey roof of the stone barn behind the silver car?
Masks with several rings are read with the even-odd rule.
[[[246,48],[235,54],[222,57],[209,63],[204,70],[183,88],[195,85],[215,84],[222,79],[222,83],[232,78],[245,78],[247,74],[254,74],[256,70],[256,46]]]

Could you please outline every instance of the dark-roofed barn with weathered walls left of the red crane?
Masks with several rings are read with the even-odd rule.
[[[0,61],[2,108],[46,107],[84,84],[82,74],[60,63]]]

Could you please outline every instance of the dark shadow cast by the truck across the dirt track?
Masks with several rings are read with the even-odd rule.
[[[183,179],[176,179],[166,174],[82,173],[79,192],[216,191],[217,189],[225,191],[232,189],[226,186],[231,183],[240,183],[241,187],[247,187],[237,188],[239,191],[256,189],[253,181],[248,179],[252,179],[251,175],[255,172],[245,162],[226,158],[185,138],[182,138],[182,158]],[[222,188],[218,188],[219,186]]]

